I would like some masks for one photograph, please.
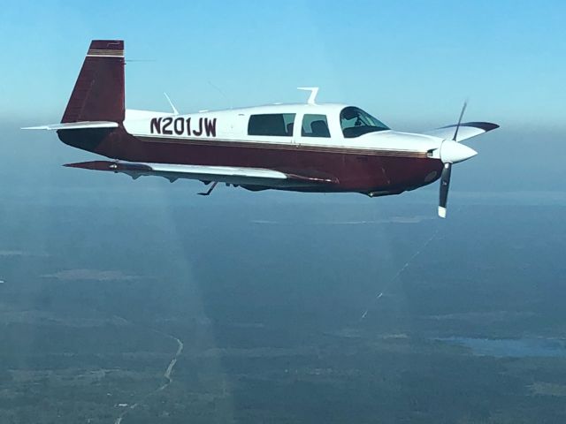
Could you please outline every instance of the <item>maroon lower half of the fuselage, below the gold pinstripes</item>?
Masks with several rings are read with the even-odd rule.
[[[338,178],[337,186],[320,191],[403,191],[430,184],[440,176],[442,163],[425,153],[379,151],[234,142],[227,140],[134,137],[120,127],[100,132],[93,144],[92,130],[59,131],[66,144],[129,162],[236,166],[279,170],[298,175]],[[87,144],[85,140],[89,140]]]

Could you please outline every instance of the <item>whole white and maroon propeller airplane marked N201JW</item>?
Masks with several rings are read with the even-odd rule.
[[[310,193],[400,194],[440,179],[438,214],[447,214],[452,165],[477,152],[460,142],[499,127],[463,123],[426,133],[394,131],[352,105],[270,104],[230,110],[126,110],[124,41],[90,43],[57,131],[59,140],[111,161],[64,166],[159,176],[210,185]],[[166,95],[165,95],[166,96]]]

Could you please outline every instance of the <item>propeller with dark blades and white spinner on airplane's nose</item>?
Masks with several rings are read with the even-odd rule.
[[[462,125],[463,113],[466,111],[468,102],[463,102],[458,124],[456,125],[454,137],[452,140],[444,140],[440,146],[440,160],[444,163],[442,174],[440,175],[440,199],[439,199],[439,216],[446,218],[446,206],[448,201],[448,188],[450,187],[450,175],[452,174],[452,164],[465,161],[471,156],[477,155],[477,152],[459,144],[457,141],[458,131]]]

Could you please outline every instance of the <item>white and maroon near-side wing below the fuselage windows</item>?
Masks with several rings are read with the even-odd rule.
[[[273,188],[315,187],[338,184],[338,178],[323,175],[297,174],[263,168],[239,168],[231,166],[175,165],[169,163],[131,163],[93,161],[67,163],[64,166],[85,170],[122,172],[132,178],[147,175],[164,177],[171,182],[178,178],[217,181],[236,186],[267,186]]]

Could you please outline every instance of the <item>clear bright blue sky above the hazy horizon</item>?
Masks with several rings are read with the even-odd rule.
[[[95,38],[126,41],[126,105],[189,112],[266,102],[354,103],[389,125],[468,118],[562,129],[562,1],[11,2],[0,116],[61,116]],[[30,118],[31,117],[31,118]],[[34,121],[34,122],[32,122]]]

